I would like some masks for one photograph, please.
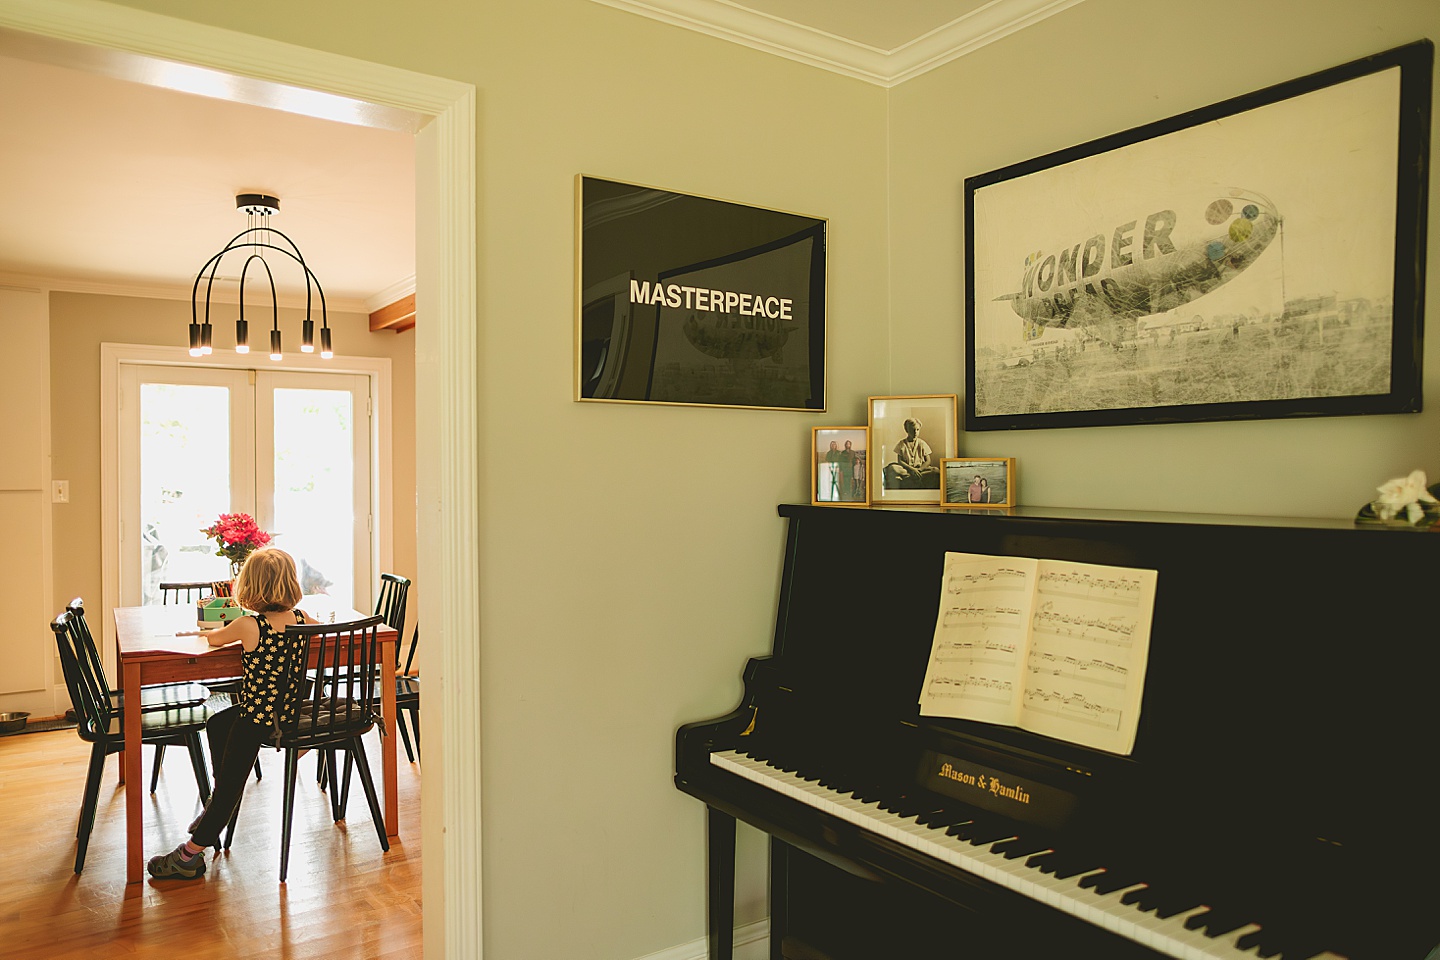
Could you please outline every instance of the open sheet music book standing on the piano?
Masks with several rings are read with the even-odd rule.
[[[920,714],[1135,748],[1155,570],[945,554]]]

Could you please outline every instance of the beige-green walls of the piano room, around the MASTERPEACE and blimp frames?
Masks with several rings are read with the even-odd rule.
[[[887,92],[589,0],[131,6],[478,89],[469,708],[485,950],[503,960],[629,960],[701,936],[703,809],[671,784],[674,730],[732,708],[768,649],[775,504],[806,497],[808,427],[863,422],[867,394],[962,389],[966,174],[1440,27],[1428,0],[1089,0]],[[829,217],[829,412],[575,403],[577,173]],[[1424,415],[965,449],[1018,456],[1031,502],[1345,515],[1433,466],[1433,440]],[[757,838],[742,848],[746,921],[765,884]]]

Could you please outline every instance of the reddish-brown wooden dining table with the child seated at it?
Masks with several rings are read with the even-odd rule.
[[[318,620],[348,622],[363,613],[337,607],[330,597],[305,597],[300,607]],[[240,645],[210,646],[203,636],[181,636],[196,629],[194,604],[115,607],[115,649],[120,658],[121,689],[140,689],[145,684],[220,679],[239,676]],[[380,664],[395,664],[396,632],[380,625],[376,639]],[[314,666],[314,665],[311,665]],[[384,832],[399,836],[399,771],[395,751],[395,684],[380,684],[384,735],[380,737],[384,796]],[[127,697],[137,702],[134,697]],[[144,773],[140,764],[140,711],[124,711],[125,751],[121,779],[125,786],[125,882],[138,884],[145,877],[144,851]],[[213,760],[212,760],[213,763]],[[336,784],[331,790],[338,789]],[[177,830],[183,830],[179,826]]]

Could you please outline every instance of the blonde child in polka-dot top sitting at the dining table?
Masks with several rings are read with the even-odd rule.
[[[206,633],[210,646],[239,642],[243,676],[238,702],[210,717],[206,738],[215,763],[215,792],[190,823],[190,839],[161,856],[150,858],[147,869],[157,879],[196,879],[204,875],[204,848],[219,846],[220,830],[230,822],[261,744],[289,720],[294,702],[276,697],[281,678],[302,643],[287,642],[291,623],[318,623],[295,607],[300,603],[295,561],[284,550],[262,547],[249,556],[235,580],[235,600],[252,616]]]

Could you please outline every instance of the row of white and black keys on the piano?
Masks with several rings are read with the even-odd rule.
[[[948,832],[949,828],[924,826],[917,823],[916,816],[899,816],[881,809],[877,802],[865,802],[850,794],[841,794],[814,780],[779,770],[763,760],[747,757],[734,750],[711,753],[710,763],[776,793],[799,800],[816,810],[854,823],[877,836],[909,846],[926,856],[950,864],[968,874],[1103,927],[1166,956],[1179,957],[1181,960],[1233,960],[1238,957],[1280,956],[1274,953],[1261,954],[1256,946],[1240,946],[1241,940],[1260,930],[1259,924],[1246,924],[1211,937],[1201,930],[1192,930],[1187,925],[1187,921],[1208,913],[1210,907],[1207,905],[1195,905],[1162,918],[1123,902],[1126,894],[1143,889],[1145,884],[1133,884],[1100,894],[1090,889],[1089,885],[1081,885],[1081,881],[1087,877],[1103,874],[1103,869],[1092,869],[1057,878],[1053,874],[1028,865],[1032,858],[1051,851],[1037,851],[1028,856],[1015,858],[1007,858],[1004,853],[995,852],[994,848],[1004,845],[1009,839],[1015,839],[1014,836],[985,843],[959,839]],[[1302,959],[1297,954],[1286,954],[1284,960]],[[1344,957],[1322,951],[1306,954],[1303,960],[1344,960]]]

